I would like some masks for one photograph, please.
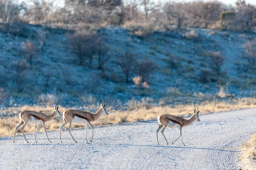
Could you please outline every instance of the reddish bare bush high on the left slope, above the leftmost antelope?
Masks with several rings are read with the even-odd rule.
[[[22,42],[22,48],[23,52],[25,52],[25,55],[27,56],[27,60],[29,61],[30,69],[32,70],[33,60],[35,59],[35,51],[36,51],[36,45],[32,43],[31,40],[27,40],[26,42]]]

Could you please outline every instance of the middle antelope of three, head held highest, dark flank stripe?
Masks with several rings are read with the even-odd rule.
[[[72,124],[84,124],[85,123],[85,140],[87,141],[87,127],[91,127],[93,129],[94,132],[94,127],[91,124],[92,121],[96,121],[97,119],[99,119],[99,117],[102,115],[102,113],[104,113],[105,115],[109,115],[106,108],[105,108],[106,104],[104,103],[104,100],[102,99],[102,103],[100,104],[100,108],[99,110],[93,114],[91,112],[88,111],[80,111],[80,110],[66,110],[65,112],[63,112],[63,121],[64,123],[61,125],[60,127],[60,142],[61,141],[61,130],[63,129],[63,127],[69,123],[68,126],[68,132],[71,136],[71,138],[73,139],[74,142],[77,143],[77,141],[75,140],[75,138],[73,137],[73,135],[71,134],[71,127]],[[92,135],[92,140],[90,140],[91,142],[93,142],[93,135]]]

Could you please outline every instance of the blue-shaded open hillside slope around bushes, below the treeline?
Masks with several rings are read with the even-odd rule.
[[[110,48],[110,59],[99,70],[96,56],[91,69],[87,61],[78,64],[68,38],[73,30],[27,25],[28,30],[29,37],[0,33],[0,87],[6,97],[2,100],[3,107],[54,103],[86,106],[97,105],[104,98],[109,106],[121,109],[143,100],[152,105],[174,105],[256,95],[255,71],[247,69],[247,60],[243,58],[243,45],[255,33],[190,28],[136,35],[121,27],[108,26],[96,30]],[[42,32],[45,44],[41,48]],[[32,70],[28,63],[20,62],[26,58],[22,42],[28,38],[38,46]],[[207,51],[220,52],[225,59],[217,79]],[[138,76],[135,72],[131,72],[129,83],[125,83],[125,75],[116,64],[123,52],[131,52],[137,61],[157,64],[147,86],[134,84],[132,79]],[[206,82],[202,78],[204,70],[207,70]]]

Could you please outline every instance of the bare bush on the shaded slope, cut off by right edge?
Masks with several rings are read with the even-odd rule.
[[[256,69],[256,38],[254,40],[248,40],[244,44],[246,51],[246,59],[250,69]]]

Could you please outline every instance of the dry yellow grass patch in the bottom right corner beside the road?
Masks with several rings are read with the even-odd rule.
[[[243,155],[241,156],[240,160],[243,161],[243,169],[255,170],[256,165],[252,163],[251,159],[256,160],[256,134],[253,135],[250,141],[243,144],[241,151]]]

